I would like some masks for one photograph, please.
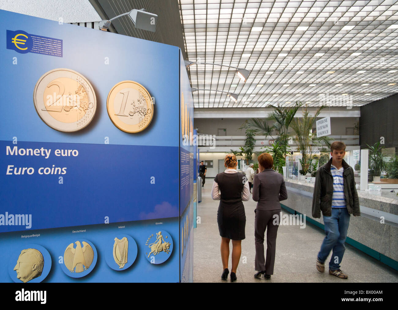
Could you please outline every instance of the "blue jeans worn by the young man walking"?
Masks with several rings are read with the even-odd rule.
[[[349,218],[347,208],[332,208],[332,216],[324,216],[326,237],[318,253],[318,261],[324,263],[333,249],[329,262],[330,270],[340,269],[345,251],[344,242],[347,237]]]

